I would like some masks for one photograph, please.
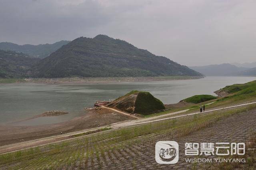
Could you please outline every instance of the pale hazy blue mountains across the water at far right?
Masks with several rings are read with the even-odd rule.
[[[232,64],[189,66],[189,68],[206,76],[256,76],[256,68],[238,67]]]

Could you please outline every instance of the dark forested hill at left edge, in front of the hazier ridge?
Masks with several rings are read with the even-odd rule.
[[[31,76],[31,66],[39,60],[39,58],[31,58],[23,53],[0,50],[0,78]]]

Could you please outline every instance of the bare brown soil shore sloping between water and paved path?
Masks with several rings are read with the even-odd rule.
[[[58,135],[61,131],[63,133],[75,132],[132,119],[136,118],[114,110],[97,108],[88,111],[83,116],[57,124],[42,126],[3,125],[0,126],[0,146]]]

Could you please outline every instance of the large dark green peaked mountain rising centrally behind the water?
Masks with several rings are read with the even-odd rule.
[[[36,64],[36,77],[202,76],[126,41],[98,35],[76,38]]]

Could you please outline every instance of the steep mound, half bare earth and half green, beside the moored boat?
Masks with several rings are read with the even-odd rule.
[[[128,113],[148,115],[165,109],[164,104],[149,92],[133,90],[108,104],[108,107],[118,108]]]

